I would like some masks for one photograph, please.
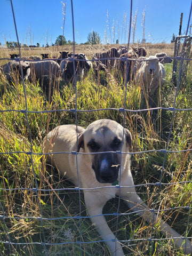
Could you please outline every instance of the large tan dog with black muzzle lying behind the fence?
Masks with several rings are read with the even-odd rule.
[[[150,211],[136,193],[130,169],[131,147],[129,130],[110,119],[100,119],[86,129],[76,125],[55,127],[44,138],[42,150],[43,154],[50,153],[48,157],[61,174],[75,186],[84,188],[87,212],[112,255],[123,256],[124,252],[108,227],[102,209],[115,196],[123,198],[130,209],[147,222],[158,222],[163,235],[172,238],[175,247],[191,253],[191,242]],[[119,185],[113,186],[113,183]]]

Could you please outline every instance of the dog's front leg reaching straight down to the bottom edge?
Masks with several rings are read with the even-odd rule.
[[[90,219],[98,233],[102,236],[102,239],[108,245],[112,255],[124,256],[121,244],[115,241],[115,235],[110,230],[105,217],[102,215],[103,206],[109,198],[106,198],[105,194],[101,194],[100,192],[97,193],[95,191],[94,193],[93,191],[84,191],[84,198]]]

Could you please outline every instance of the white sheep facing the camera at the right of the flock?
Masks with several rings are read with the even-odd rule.
[[[148,90],[149,94],[163,85],[164,79],[165,69],[156,56],[149,56],[143,61],[135,76],[135,82],[139,83],[143,90]]]

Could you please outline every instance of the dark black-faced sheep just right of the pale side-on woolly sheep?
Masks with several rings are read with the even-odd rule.
[[[80,80],[86,75],[87,71],[90,70],[92,63],[83,53],[74,54],[74,62],[76,79]],[[71,81],[74,77],[73,60],[62,60],[60,63],[60,70],[61,77],[66,81]]]

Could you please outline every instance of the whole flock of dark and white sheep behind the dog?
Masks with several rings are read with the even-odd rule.
[[[172,60],[166,53],[157,53],[155,56],[147,57],[144,47],[132,47],[127,50],[125,46],[119,49],[112,47],[108,51],[95,53],[91,60],[83,53],[73,54],[60,52],[59,58],[49,58],[49,54],[19,58],[17,54],[10,54],[11,61],[1,66],[1,70],[9,81],[14,82],[15,77],[23,73],[24,79],[29,81],[41,81],[50,84],[56,78],[72,82],[74,70],[76,79],[82,79],[87,72],[93,68],[95,74],[99,70],[111,71],[114,68],[123,81],[139,83],[142,90],[153,93],[161,86],[165,79],[164,63],[171,63]],[[21,69],[20,69],[21,66]]]

